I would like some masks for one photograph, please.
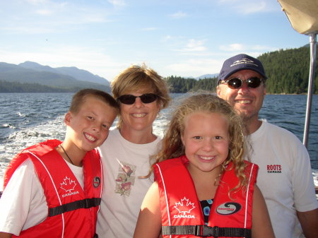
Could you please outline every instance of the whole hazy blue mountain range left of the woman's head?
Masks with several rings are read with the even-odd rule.
[[[31,61],[18,65],[0,62],[0,81],[9,85],[45,85],[52,88],[52,91],[57,88],[70,92],[81,88],[96,88],[110,92],[110,82],[107,79],[86,70],[76,67],[52,68]],[[5,93],[1,89],[0,92]]]

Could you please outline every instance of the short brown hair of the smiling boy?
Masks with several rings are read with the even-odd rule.
[[[72,97],[71,106],[69,107],[69,112],[76,114],[87,97],[95,97],[96,99],[107,103],[107,105],[110,105],[110,107],[113,107],[117,112],[119,112],[119,105],[118,102],[114,100],[114,97],[104,91],[93,88],[82,89],[74,94]]]

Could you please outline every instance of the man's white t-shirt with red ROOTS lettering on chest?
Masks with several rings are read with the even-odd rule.
[[[259,165],[257,186],[265,198],[276,238],[302,237],[296,210],[318,207],[310,157],[298,138],[263,121],[247,136],[249,158]]]

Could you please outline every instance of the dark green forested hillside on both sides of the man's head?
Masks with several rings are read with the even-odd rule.
[[[281,49],[276,52],[261,54],[257,57],[264,65],[268,79],[267,93],[307,93],[310,69],[310,47],[298,49]],[[318,94],[318,56],[316,59],[316,77],[314,93]],[[177,76],[167,77],[171,93],[187,93],[191,90],[216,90],[217,78],[194,78]]]

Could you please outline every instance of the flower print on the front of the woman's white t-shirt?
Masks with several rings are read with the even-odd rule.
[[[116,187],[114,192],[120,195],[129,196],[131,186],[134,186],[136,165],[130,165],[126,162],[119,161],[118,174],[116,180]]]

